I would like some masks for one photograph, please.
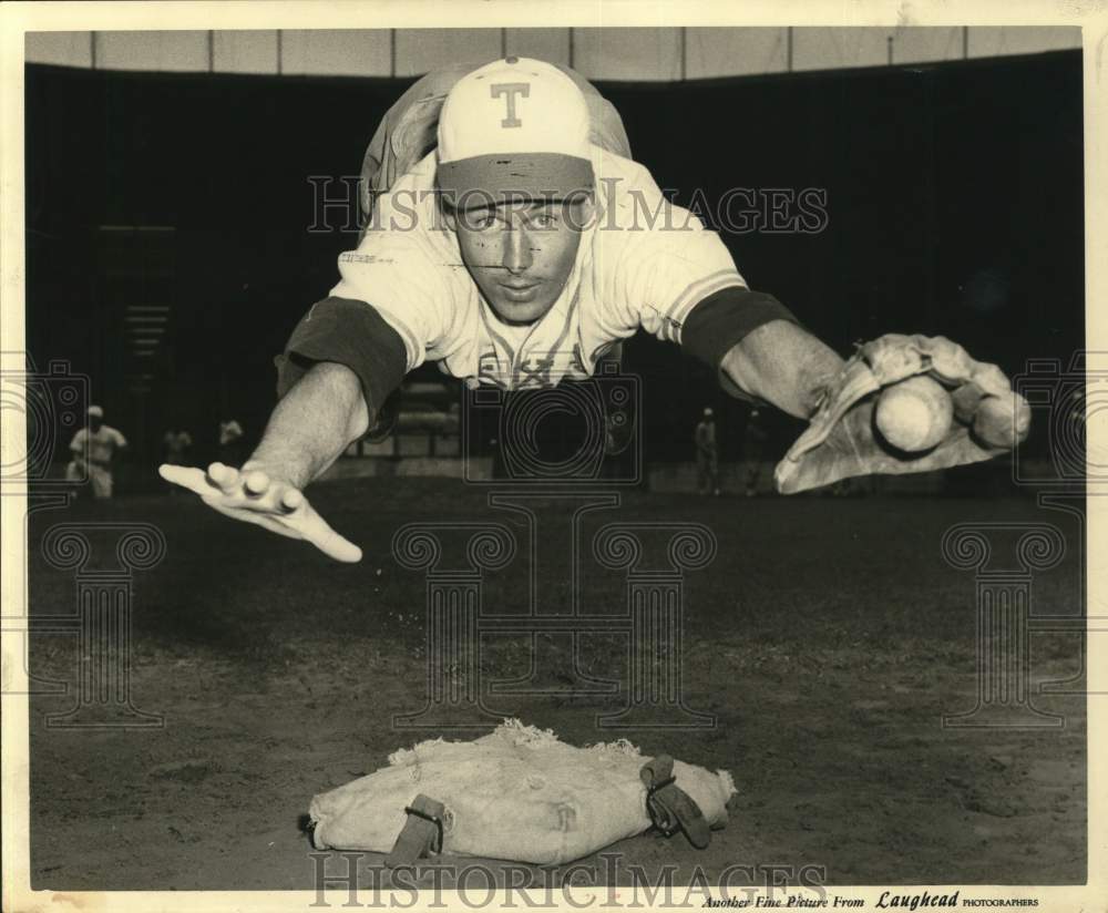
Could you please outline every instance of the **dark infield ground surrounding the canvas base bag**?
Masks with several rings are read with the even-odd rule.
[[[971,709],[977,688],[974,574],[944,562],[944,531],[1057,525],[1074,545],[1035,577],[1034,611],[1074,616],[1073,515],[1017,496],[622,499],[591,514],[591,529],[691,521],[718,540],[715,562],[687,575],[683,645],[687,704],[715,715],[715,727],[597,729],[618,695],[502,695],[493,705],[566,741],[626,737],[646,753],[731,771],[738,811],[709,849],[647,834],[612,848],[627,864],[674,863],[678,883],[695,865],[715,878],[735,864],[823,866],[835,884],[1085,880],[1085,698],[1033,687],[1038,709],[1064,717],[1057,729],[941,725]],[[74,702],[76,638],[32,637],[32,671],[69,685],[31,699],[35,889],[310,890],[318,863],[299,819],[312,794],[442,735],[392,726],[423,705],[427,645],[424,576],[401,567],[390,543],[412,521],[512,515],[488,506],[483,491],[433,480],[325,483],[312,500],[363,547],[360,565],[330,563],[184,496],[32,515],[34,616],[74,611],[73,572],[40,553],[53,524],[151,523],[168,548],[134,577],[131,674],[134,704],[163,715],[163,727],[47,728],[47,715]],[[541,563],[538,591],[564,595],[563,572]],[[491,575],[486,604],[520,605],[527,582],[522,565]],[[581,594],[618,612],[623,577],[588,571]],[[564,638],[535,636],[542,656],[566,659]],[[530,637],[489,637],[482,668],[524,675]],[[1083,670],[1075,635],[1033,633],[1030,647],[1033,685]],[[601,634],[582,647],[581,666],[618,678],[626,653],[625,638]],[[557,675],[545,684],[556,690]]]

